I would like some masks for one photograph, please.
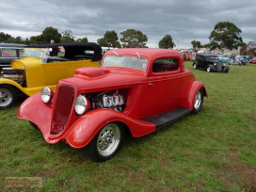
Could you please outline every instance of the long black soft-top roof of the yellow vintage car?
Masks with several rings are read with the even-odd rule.
[[[28,45],[28,48],[47,48],[47,47],[64,47],[65,57],[73,57],[78,55],[85,55],[85,50],[94,51],[92,61],[102,59],[102,47],[95,42],[62,42],[62,43],[48,43]]]

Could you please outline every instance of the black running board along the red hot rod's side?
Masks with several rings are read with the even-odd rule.
[[[169,123],[174,122],[175,120],[179,120],[180,118],[184,117],[190,112],[191,112],[190,108],[179,106],[166,113],[153,116],[151,118],[140,119],[140,120],[144,120],[147,122],[151,122],[152,124],[155,124],[155,129],[158,130],[168,125]]]

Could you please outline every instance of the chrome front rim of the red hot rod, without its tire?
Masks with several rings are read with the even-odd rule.
[[[120,144],[120,127],[115,123],[104,126],[97,139],[97,150],[103,156],[111,155]]]

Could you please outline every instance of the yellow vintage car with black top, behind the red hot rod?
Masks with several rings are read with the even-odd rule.
[[[58,46],[64,47],[64,56],[50,56]],[[11,68],[3,68],[0,74],[0,109],[15,104],[20,94],[31,96],[45,86],[55,91],[58,80],[72,76],[77,68],[100,67],[101,58],[102,48],[93,42],[24,47],[21,59],[13,60]]]

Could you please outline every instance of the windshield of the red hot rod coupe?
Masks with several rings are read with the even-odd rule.
[[[105,56],[103,66],[119,66],[146,71],[148,60],[136,56]]]

